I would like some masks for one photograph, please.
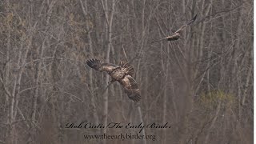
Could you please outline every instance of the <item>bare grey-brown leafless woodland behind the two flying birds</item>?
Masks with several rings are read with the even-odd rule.
[[[181,40],[150,44],[195,14]],[[146,129],[157,138],[147,143],[253,142],[253,1],[2,0],[0,31],[0,143],[132,133],[63,128],[138,123],[118,82],[103,94],[108,76],[85,65],[94,57],[130,62],[143,121],[172,123]]]

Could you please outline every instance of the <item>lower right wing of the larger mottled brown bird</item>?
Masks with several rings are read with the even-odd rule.
[[[125,78],[118,81],[124,87],[125,93],[134,102],[138,102],[141,99],[140,90],[138,89],[138,84],[130,75],[126,75]]]

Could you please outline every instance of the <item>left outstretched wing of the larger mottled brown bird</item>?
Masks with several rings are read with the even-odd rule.
[[[98,59],[89,59],[88,61],[86,61],[86,63],[88,66],[90,66],[94,70],[106,71],[108,73],[110,73],[116,67],[118,67],[117,65],[114,65],[112,63],[102,62],[101,60],[98,60]]]

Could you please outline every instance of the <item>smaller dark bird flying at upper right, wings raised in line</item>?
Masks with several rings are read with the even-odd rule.
[[[160,42],[160,41],[163,41],[163,40],[167,40],[167,41],[176,41],[176,40],[178,40],[179,38],[182,37],[182,36],[181,36],[182,30],[184,30],[184,29],[186,28],[186,26],[190,26],[190,25],[195,21],[195,19],[197,18],[197,16],[198,16],[198,14],[196,14],[196,15],[194,16],[194,18],[192,18],[192,19],[190,20],[190,22],[186,22],[185,25],[181,26],[178,30],[176,30],[176,31],[174,32],[174,34],[172,34],[172,35],[170,35],[170,36],[168,36],[168,37],[166,37],[166,38],[159,39],[159,40],[154,41],[154,42]],[[151,42],[151,44],[154,43],[154,42]]]

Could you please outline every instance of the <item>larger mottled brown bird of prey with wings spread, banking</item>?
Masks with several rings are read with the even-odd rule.
[[[112,80],[110,82],[118,81],[125,90],[128,97],[134,102],[141,99],[138,84],[132,77],[134,75],[134,68],[127,62],[120,62],[119,66],[112,63],[102,62],[98,59],[90,59],[86,61],[87,65],[98,71],[106,71],[110,74]]]

